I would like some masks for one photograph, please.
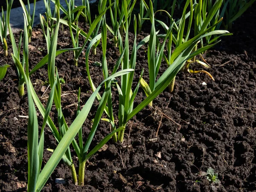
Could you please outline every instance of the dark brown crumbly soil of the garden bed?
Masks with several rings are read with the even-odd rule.
[[[173,94],[163,92],[154,100],[154,108],[146,107],[128,123],[124,143],[109,141],[105,150],[87,162],[85,186],[72,184],[70,171],[61,161],[43,191],[256,191],[255,10],[254,4],[234,23],[230,30],[234,35],[222,38],[215,49],[204,55],[212,66],[208,71],[215,81],[205,74],[179,73]],[[145,35],[142,33],[138,38]],[[133,37],[131,34],[131,40]],[[41,29],[35,29],[30,47],[31,67],[47,52],[43,39]],[[110,67],[119,56],[112,43],[108,39]],[[58,49],[70,46],[69,32],[64,28],[59,32]],[[143,67],[147,68],[145,50],[146,47],[142,47],[138,52],[137,74]],[[101,61],[102,52],[97,51],[96,56],[90,55],[90,61]],[[11,57],[6,59],[1,53],[0,65],[5,63],[12,67],[0,81],[0,191],[23,192],[27,180],[28,105],[26,95],[18,96],[17,73]],[[62,85],[62,105],[70,125],[76,116],[79,87],[82,105],[91,94],[84,56],[79,59],[79,67],[74,67],[73,53],[64,53],[56,58],[56,66],[60,77],[66,81]],[[165,63],[162,66],[160,73],[166,69]],[[94,82],[102,81],[100,67],[91,66],[91,73]],[[145,79],[146,76],[145,70]],[[31,80],[39,98],[46,104],[49,93],[48,90],[44,93],[48,86],[47,66],[32,75]],[[143,91],[139,90],[135,105],[144,98]],[[84,140],[90,131],[96,104],[84,123]],[[117,110],[116,103],[114,111]],[[56,123],[55,112],[53,110],[51,116]],[[41,125],[42,118],[38,117]],[[92,147],[109,133],[108,127],[107,123],[100,123]],[[47,129],[45,148],[55,146]],[[45,149],[44,163],[50,155]],[[73,160],[77,164],[75,156]],[[209,167],[218,173],[219,184],[209,183],[204,176],[203,172]],[[55,178],[64,178],[66,184],[55,184]]]

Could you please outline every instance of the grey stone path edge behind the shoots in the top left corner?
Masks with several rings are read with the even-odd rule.
[[[94,3],[96,2],[96,0],[89,0],[90,3]],[[67,9],[67,4],[65,2],[65,0],[60,0],[61,5]],[[75,5],[79,6],[82,5],[82,0],[75,0]],[[27,6],[26,6],[27,8]],[[33,3],[30,3],[30,11],[31,11],[31,15],[33,13],[33,8],[34,5]],[[51,2],[51,9],[54,9],[54,3]],[[35,4],[35,20],[34,20],[34,26],[36,26],[37,24],[40,23],[40,13],[43,15],[45,13],[45,5],[44,5],[44,1],[40,0],[37,1]],[[62,12],[61,12],[62,13]],[[6,12],[5,12],[6,14]],[[10,14],[10,24],[12,27],[12,32],[19,32],[20,29],[24,28],[24,19],[23,19],[23,9],[22,7],[17,7],[15,9],[11,10],[11,14]]]

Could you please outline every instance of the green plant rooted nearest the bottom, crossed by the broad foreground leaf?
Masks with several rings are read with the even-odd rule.
[[[58,3],[58,2],[56,1],[56,3]],[[57,6],[57,10],[58,10],[58,6]],[[57,13],[58,13],[58,11],[57,11]],[[102,15],[103,14],[105,14],[105,11],[102,12]],[[96,26],[97,25],[97,22],[99,22],[99,20],[101,19],[102,15],[99,15],[98,18],[93,21],[92,26]],[[55,26],[55,33],[54,33],[54,35],[52,37],[52,40],[51,40],[51,43],[50,43],[51,46],[50,46],[50,50],[49,50],[49,60],[48,60],[48,77],[49,77],[50,87],[53,87],[54,83],[55,83],[55,55],[56,55],[56,45],[57,45],[57,39],[58,39],[59,25],[60,25],[60,17],[59,17],[59,14],[57,14],[57,23],[56,23],[56,26]],[[93,27],[88,32],[87,39],[85,40],[85,42],[88,41],[88,38],[90,37],[90,34],[92,32],[93,32]],[[83,47],[81,47],[79,50],[81,51],[81,49],[83,49]],[[106,79],[106,81],[109,81],[109,80],[111,80],[112,78],[114,78],[116,76],[120,76],[122,74],[129,73],[131,71],[132,70],[126,70],[126,71],[122,71],[122,72],[116,73],[115,76],[109,77],[109,79]],[[56,77],[57,77],[57,87],[55,89],[55,93],[54,93],[54,96],[53,96],[54,99],[53,100],[54,100],[54,103],[55,103],[55,106],[56,106],[56,110],[58,111],[58,127],[60,129],[60,133],[58,134],[56,132],[57,129],[55,127],[52,128],[52,130],[55,130],[55,131],[52,131],[52,132],[54,133],[54,136],[55,136],[56,140],[61,142],[60,138],[64,137],[64,135],[66,134],[66,132],[67,132],[67,130],[69,128],[67,126],[67,123],[65,121],[65,118],[64,118],[64,115],[63,115],[62,109],[61,109],[61,86],[60,86],[60,83],[59,83],[59,78],[58,78],[57,71],[56,71]],[[93,155],[96,151],[98,151],[99,148],[102,147],[102,145],[104,145],[106,142],[108,142],[108,140],[115,133],[115,132],[113,132],[110,135],[108,135],[107,137],[105,137],[102,140],[102,142],[100,142],[93,149],[93,151],[88,153],[88,149],[90,147],[90,143],[91,143],[91,141],[93,139],[93,136],[95,134],[96,128],[97,128],[97,126],[99,124],[100,118],[101,118],[102,113],[104,111],[104,108],[105,108],[105,105],[106,105],[106,102],[107,102],[107,98],[108,98],[108,94],[110,93],[109,87],[110,87],[110,84],[108,84],[108,86],[105,87],[105,92],[103,93],[102,100],[100,101],[100,104],[99,104],[99,109],[96,112],[96,116],[95,116],[94,121],[93,121],[93,126],[91,128],[91,132],[90,132],[90,134],[88,136],[88,139],[87,139],[85,145],[83,145],[83,140],[82,140],[82,137],[81,137],[81,125],[80,125],[80,128],[79,128],[80,131],[78,130],[79,133],[80,133],[79,134],[80,135],[80,137],[79,137],[79,145],[77,144],[76,140],[73,139],[73,141],[72,141],[73,148],[75,149],[76,155],[77,155],[78,160],[79,160],[79,174],[78,174],[79,175],[79,177],[78,177],[78,184],[79,185],[84,185],[84,169],[85,169],[85,163],[88,160],[88,158],[91,155]],[[97,92],[98,91],[99,91],[99,88],[98,88]],[[78,111],[80,111],[80,110],[78,110]],[[80,113],[82,113],[82,111]],[[77,118],[80,117],[80,113],[78,112]],[[122,128],[120,128],[120,130],[121,129]],[[62,158],[62,159],[63,159],[64,163],[67,166],[70,167],[72,175],[73,175],[74,183],[76,183],[77,182],[76,170],[73,167],[73,161],[72,161],[72,158],[71,158],[71,154],[70,154],[70,149],[69,148],[67,148],[67,151],[66,151],[65,155],[66,155],[67,158]]]

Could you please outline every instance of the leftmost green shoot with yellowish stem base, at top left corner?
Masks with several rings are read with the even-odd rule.
[[[9,0],[9,2],[8,0],[6,0],[6,7],[7,7],[6,17],[4,15],[3,6],[2,6],[2,17],[0,16],[0,38],[3,44],[4,56],[6,57],[8,55],[8,46],[6,43],[6,36],[7,36],[7,29],[8,29],[8,21],[10,17],[11,8],[12,8],[12,2],[13,0]]]

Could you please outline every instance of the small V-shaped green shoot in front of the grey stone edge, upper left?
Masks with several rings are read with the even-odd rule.
[[[34,24],[34,18],[35,18],[35,3],[36,3],[36,0],[34,0],[34,10],[33,10],[33,14],[32,16],[30,15],[30,5],[29,5],[29,0],[28,0],[28,9],[26,9],[26,6],[25,4],[23,3],[22,0],[20,0],[20,5],[23,9],[23,12],[24,12],[24,15],[25,15],[25,18],[26,18],[26,23],[27,23],[27,29],[28,29],[28,34],[29,34],[29,43],[31,41],[31,36],[32,36],[32,27],[33,27],[33,24]]]

